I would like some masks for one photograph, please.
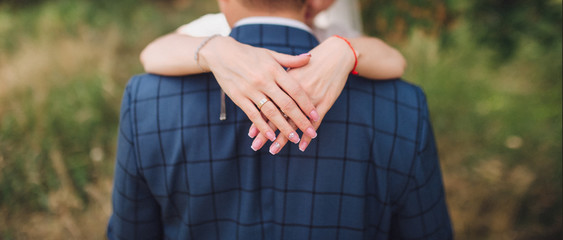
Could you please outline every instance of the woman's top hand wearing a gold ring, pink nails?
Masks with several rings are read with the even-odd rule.
[[[320,116],[308,93],[283,67],[299,68],[309,60],[309,54],[280,54],[239,43],[231,37],[217,37],[199,52],[201,68],[213,72],[225,93],[267,139],[274,141],[275,130],[279,129],[280,136],[294,143],[300,141],[295,127],[304,133],[304,137],[317,135],[307,116],[313,121],[318,121]],[[280,110],[294,125],[289,124]]]

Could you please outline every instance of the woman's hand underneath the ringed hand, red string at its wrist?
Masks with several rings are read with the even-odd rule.
[[[311,51],[312,57],[309,64],[294,68],[289,75],[299,80],[302,88],[309,95],[319,112],[319,121],[313,126],[317,129],[328,110],[332,107],[354,66],[354,53],[342,39],[331,37]],[[292,123],[293,124],[293,123]],[[293,125],[295,127],[295,125]],[[275,126],[272,126],[275,130]],[[265,141],[265,136],[255,126],[251,126],[249,135],[256,137],[252,149],[260,149]],[[305,135],[299,143],[299,149],[305,151],[313,136]],[[277,154],[287,143],[287,138],[280,135],[270,146],[270,153]]]

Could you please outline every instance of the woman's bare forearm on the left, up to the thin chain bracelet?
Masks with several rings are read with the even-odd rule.
[[[178,76],[203,73],[194,53],[205,37],[191,37],[177,33],[162,36],[141,52],[140,60],[146,72]]]

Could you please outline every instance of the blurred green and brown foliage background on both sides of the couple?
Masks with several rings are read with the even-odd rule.
[[[561,0],[361,0],[428,96],[458,239],[562,237]],[[141,49],[215,1],[0,0],[0,239],[103,239]]]

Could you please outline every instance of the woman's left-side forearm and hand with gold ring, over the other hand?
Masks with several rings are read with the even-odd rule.
[[[309,55],[280,54],[239,43],[231,37],[215,37],[203,44],[206,39],[166,35],[143,50],[141,62],[147,72],[161,75],[213,72],[225,93],[271,141],[276,136],[263,116],[290,141],[300,140],[280,110],[306,135],[316,136],[311,122],[319,118],[316,108],[283,68],[301,67],[309,62]],[[194,57],[196,51],[199,63]],[[272,103],[268,101],[257,109],[263,99]]]

